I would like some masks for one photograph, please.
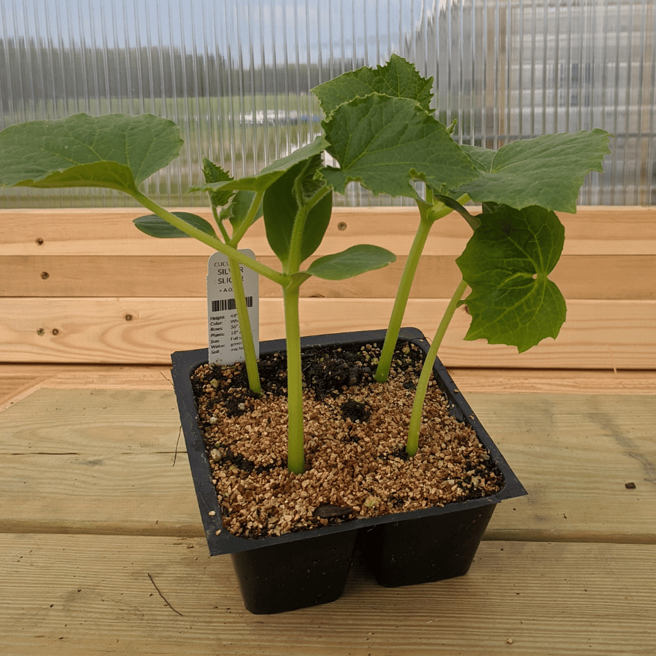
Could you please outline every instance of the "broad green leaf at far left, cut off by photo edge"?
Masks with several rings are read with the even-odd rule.
[[[131,193],[174,160],[180,128],[151,114],[75,114],[0,132],[0,185],[107,187]]]

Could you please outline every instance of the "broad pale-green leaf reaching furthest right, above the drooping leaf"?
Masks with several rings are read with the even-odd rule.
[[[576,212],[579,189],[590,171],[603,171],[610,153],[610,135],[603,130],[543,135],[501,147],[494,156],[486,149],[465,147],[480,178],[458,189],[472,200],[493,201],[516,209],[540,205],[556,212]]]

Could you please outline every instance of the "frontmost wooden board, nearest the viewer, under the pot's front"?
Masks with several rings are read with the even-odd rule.
[[[465,577],[408,588],[355,566],[337,601],[269,616],[200,540],[9,535],[0,554],[7,656],[656,653],[653,546],[483,543]]]

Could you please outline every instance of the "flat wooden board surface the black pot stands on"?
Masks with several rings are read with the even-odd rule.
[[[338,601],[275,616],[207,555],[168,377],[0,366],[3,654],[656,653],[656,373],[453,371],[529,496],[465,577],[386,589],[356,563]]]

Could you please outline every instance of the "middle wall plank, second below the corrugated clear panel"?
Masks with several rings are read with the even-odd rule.
[[[393,248],[393,247],[392,247]],[[308,259],[308,264],[316,258]],[[274,257],[259,260],[279,269]],[[310,278],[303,297],[393,298],[406,263],[346,281]],[[204,297],[207,256],[15,255],[0,258],[0,296]],[[448,298],[461,279],[451,255],[422,257],[411,297]],[[656,299],[656,255],[563,256],[551,275],[565,299]],[[260,279],[261,297],[280,297],[279,285]]]

